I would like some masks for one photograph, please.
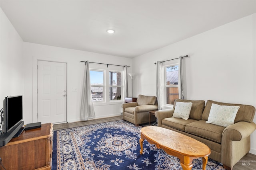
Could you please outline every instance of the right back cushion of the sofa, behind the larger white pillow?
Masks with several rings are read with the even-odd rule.
[[[234,123],[237,123],[239,121],[252,122],[254,118],[255,107],[253,106],[244,105],[244,104],[222,103],[222,102],[215,102],[212,100],[208,100],[206,103],[206,106],[204,107],[202,120],[208,120],[212,104],[218,104],[222,106],[240,106],[240,108],[238,109],[238,112],[236,113],[236,118],[234,120]]]

